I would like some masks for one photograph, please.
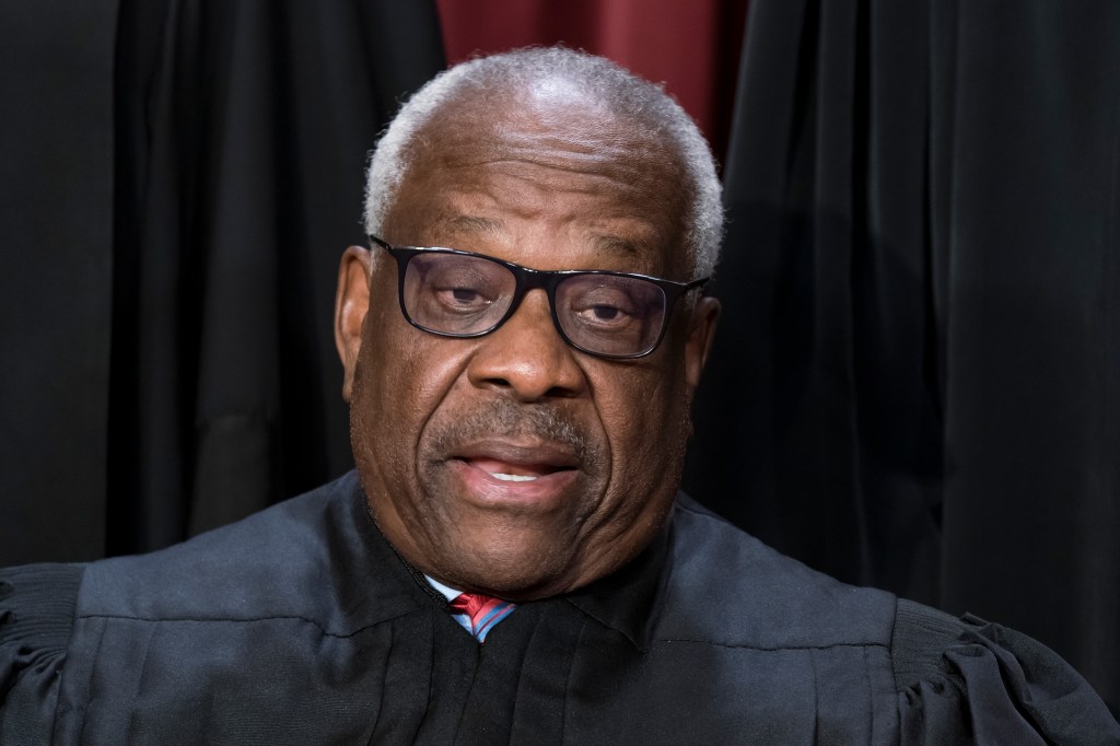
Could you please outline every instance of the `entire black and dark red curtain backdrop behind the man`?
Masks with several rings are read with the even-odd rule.
[[[563,40],[664,81],[725,165],[687,488],[1040,638],[1117,712],[1118,39],[1110,0],[4,3],[0,563],[349,468],[366,153],[446,62]]]

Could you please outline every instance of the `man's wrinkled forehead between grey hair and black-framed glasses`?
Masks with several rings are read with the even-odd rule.
[[[461,96],[421,128],[386,229],[409,241],[535,230],[662,268],[683,259],[690,189],[668,138],[571,95],[493,97]]]

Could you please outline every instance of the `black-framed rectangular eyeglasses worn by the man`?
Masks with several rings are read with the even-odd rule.
[[[549,296],[552,323],[576,349],[609,358],[642,357],[665,336],[673,304],[708,278],[673,282],[599,270],[544,271],[494,257],[370,241],[396,260],[401,313],[445,337],[480,337],[498,328],[535,288]]]

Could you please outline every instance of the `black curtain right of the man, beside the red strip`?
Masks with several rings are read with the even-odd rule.
[[[687,485],[1120,710],[1120,4],[754,0]]]

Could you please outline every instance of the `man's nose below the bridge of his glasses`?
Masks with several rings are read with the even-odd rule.
[[[478,339],[467,375],[478,388],[507,390],[519,401],[578,397],[587,388],[576,351],[552,323],[544,290],[525,293],[501,327]]]

